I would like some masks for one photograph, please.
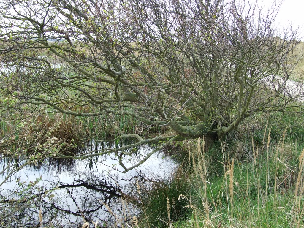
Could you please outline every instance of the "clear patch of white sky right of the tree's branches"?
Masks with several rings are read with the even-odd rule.
[[[257,0],[258,5],[262,6],[262,9],[269,8],[275,4],[274,0]],[[276,1],[279,2],[279,1]],[[281,8],[278,11],[278,15],[275,20],[275,24],[282,32],[283,29],[290,28],[300,29],[298,40],[304,41],[304,1],[303,0],[282,0]]]

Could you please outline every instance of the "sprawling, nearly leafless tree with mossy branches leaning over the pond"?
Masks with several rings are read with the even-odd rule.
[[[295,36],[276,37],[275,7],[263,15],[233,0],[4,0],[1,95],[14,99],[9,110],[128,115],[147,128],[167,126],[170,134],[142,137],[113,119],[116,139],[133,144],[74,155],[116,153],[127,172],[173,141],[224,139],[255,112],[294,105],[302,96],[287,86]],[[158,142],[125,167],[126,149]]]

